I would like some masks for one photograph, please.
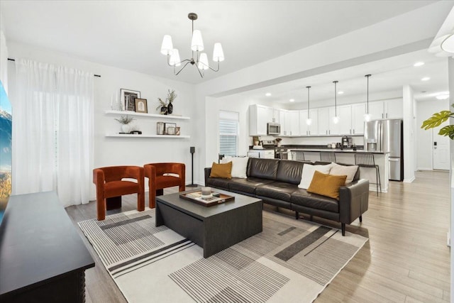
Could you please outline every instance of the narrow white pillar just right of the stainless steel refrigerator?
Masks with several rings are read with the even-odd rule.
[[[403,87],[404,106],[404,182],[414,180],[414,97],[413,89],[409,85]]]

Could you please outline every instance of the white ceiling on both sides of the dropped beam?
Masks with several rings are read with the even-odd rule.
[[[197,84],[271,60],[338,35],[370,26],[434,1],[0,1],[7,41],[57,50],[90,62]],[[172,35],[182,60],[190,55],[191,21],[199,19],[211,62],[213,45],[221,42],[226,60],[220,72],[204,79],[188,66],[178,76],[160,54],[162,36]],[[329,20],[329,22],[326,22]],[[346,22],[348,20],[348,22]],[[400,91],[410,84],[416,99],[430,99],[448,90],[445,58],[426,51],[370,62],[272,87],[241,93],[258,101],[295,103],[364,95],[364,75],[372,74],[370,92]],[[413,67],[414,62],[425,65]],[[421,82],[422,77],[431,77]],[[265,97],[271,92],[271,97]],[[424,92],[424,93],[421,93]]]

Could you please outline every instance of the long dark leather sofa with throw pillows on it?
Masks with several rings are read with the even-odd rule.
[[[350,224],[367,211],[369,204],[369,181],[360,179],[356,172],[353,182],[339,189],[339,201],[300,189],[303,165],[292,160],[249,158],[246,175],[248,178],[221,179],[209,177],[211,167],[205,168],[205,185],[229,192],[245,194],[262,199],[267,204],[291,209],[296,218],[299,212],[341,222],[342,235],[345,224]],[[315,162],[329,164],[327,162]],[[348,165],[348,164],[343,164]]]

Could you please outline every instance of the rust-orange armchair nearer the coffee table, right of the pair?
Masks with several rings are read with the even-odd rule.
[[[163,194],[163,189],[166,187],[178,186],[179,192],[186,190],[186,165],[184,163],[150,163],[143,167],[145,177],[148,177],[150,208],[155,208],[156,195]]]

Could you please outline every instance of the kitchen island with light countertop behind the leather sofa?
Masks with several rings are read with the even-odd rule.
[[[306,160],[306,161],[320,161],[321,152],[332,152],[336,155],[336,162],[345,164],[355,164],[355,153],[372,153],[374,154],[375,164],[378,165],[380,170],[380,180],[382,182],[382,192],[388,191],[389,184],[389,152],[380,150],[365,151],[341,149],[341,148],[289,148],[289,159],[292,160]],[[304,155],[304,158],[302,157]],[[369,180],[369,182],[376,182],[375,169],[360,167],[361,178]],[[370,184],[369,189],[372,191],[377,190],[377,184]]]

